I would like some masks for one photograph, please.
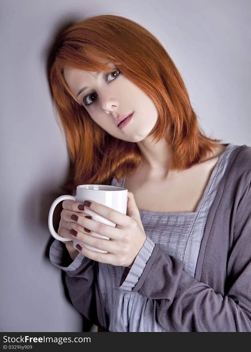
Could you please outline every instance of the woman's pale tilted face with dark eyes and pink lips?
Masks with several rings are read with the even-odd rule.
[[[111,136],[128,142],[140,142],[148,136],[157,121],[158,112],[153,100],[117,68],[113,72],[97,73],[69,67],[64,78],[71,92],[77,96],[90,117]],[[119,115],[133,112],[129,123],[116,125]]]

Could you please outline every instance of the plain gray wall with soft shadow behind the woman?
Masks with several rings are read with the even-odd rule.
[[[47,216],[69,160],[46,59],[59,26],[97,14],[121,15],[152,32],[184,78],[204,131],[251,145],[250,1],[2,1],[2,332],[89,329],[48,258]]]

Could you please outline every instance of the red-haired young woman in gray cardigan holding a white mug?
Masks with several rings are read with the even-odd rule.
[[[108,252],[51,245],[76,309],[106,331],[251,331],[251,148],[200,131],[172,59],[127,18],[65,29],[50,83],[72,163],[64,189],[128,189],[127,215],[63,202],[58,233]]]

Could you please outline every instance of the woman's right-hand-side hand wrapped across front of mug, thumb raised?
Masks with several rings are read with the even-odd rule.
[[[87,206],[88,204],[90,205]],[[147,238],[133,193],[128,192],[127,215],[92,200],[84,201],[84,205],[86,209],[90,209],[103,216],[103,218],[114,222],[116,227],[85,218],[82,216],[83,214],[79,216],[79,213],[73,212],[73,214],[78,217],[76,221],[73,221],[78,226],[78,230],[76,236],[70,234],[72,239],[78,239],[83,243],[107,251],[108,253],[94,252],[83,246],[79,246],[79,252],[85,257],[96,260],[100,263],[127,266],[128,268],[131,268],[137,254]],[[72,221],[72,218],[67,219],[67,221]],[[77,226],[72,228],[76,230]],[[90,236],[86,231],[81,230],[84,228],[107,236],[110,240]],[[80,249],[81,247],[82,249]]]

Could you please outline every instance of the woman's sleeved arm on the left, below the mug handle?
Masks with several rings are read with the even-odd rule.
[[[97,283],[97,262],[81,253],[72,261],[65,244],[56,239],[49,255],[51,263],[66,272],[65,282],[73,306],[95,325],[105,327]]]

